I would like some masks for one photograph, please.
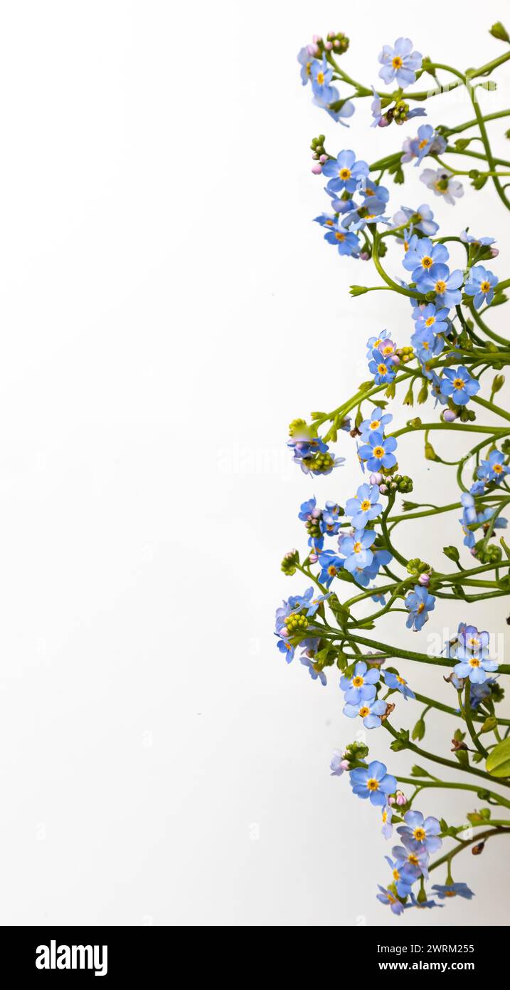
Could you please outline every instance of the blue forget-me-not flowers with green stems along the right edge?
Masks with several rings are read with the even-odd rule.
[[[493,36],[505,40],[502,26],[496,27]],[[429,96],[439,97],[443,91],[438,73],[450,71],[424,58],[409,39],[398,38],[393,45],[383,45],[379,63],[375,52],[378,79],[394,89],[387,92],[374,78],[364,85],[344,72],[338,58],[348,48],[343,34],[331,32],[325,39],[314,36],[298,54],[301,80],[309,85],[313,102],[342,125],[352,118],[355,103],[367,98],[372,113],[366,126],[402,126],[423,117]],[[486,77],[508,58],[510,52],[468,74],[453,69],[449,86],[465,86],[472,95],[472,79],[482,76],[483,85],[488,85]],[[430,80],[425,88],[420,84],[424,74],[433,78],[432,89]],[[434,113],[438,103],[432,103]],[[507,113],[493,113],[488,120]],[[345,462],[346,457],[336,456],[331,448],[337,442],[351,448],[362,473],[355,490],[330,490],[329,501],[305,493],[298,512],[306,534],[305,555],[288,551],[282,570],[286,575],[298,571],[306,590],[277,610],[275,634],[288,662],[298,650],[312,680],[322,686],[329,680],[330,687],[333,681],[333,688],[340,688],[343,716],[356,724],[357,742],[334,750],[330,772],[335,777],[348,774],[354,795],[380,809],[386,841],[396,830],[397,843],[385,856],[390,877],[376,895],[396,916],[410,909],[443,907],[456,896],[471,899],[467,884],[453,878],[453,861],[467,847],[476,854],[482,851],[500,829],[499,819],[508,805],[497,784],[510,783],[509,720],[500,718],[496,706],[504,699],[503,678],[510,666],[499,662],[492,651],[497,641],[474,622],[479,600],[510,593],[510,547],[503,536],[504,510],[510,504],[510,427],[504,404],[495,401],[504,385],[501,370],[510,363],[510,340],[502,336],[501,326],[495,330],[489,325],[494,308],[507,301],[504,290],[510,278],[500,279],[492,271],[492,260],[499,257],[493,238],[484,233],[475,237],[468,228],[452,230],[448,224],[442,230],[430,202],[396,209],[389,205],[389,180],[401,185],[411,165],[421,170],[418,174],[429,194],[448,206],[455,206],[465,193],[462,176],[475,192],[493,183],[499,201],[510,209],[504,178],[508,163],[494,158],[487,119],[480,115],[478,108],[474,120],[456,128],[437,120],[420,123],[416,131],[404,133],[403,144],[398,142],[398,148],[373,163],[351,148],[330,152],[323,134],[311,142],[312,171],[325,180],[328,200],[324,212],[315,217],[324,240],[337,248],[342,264],[372,260],[380,280],[377,285],[353,285],[351,294],[392,292],[395,300],[405,303],[406,322],[398,345],[391,331],[381,330],[381,325],[374,328],[376,333],[367,341],[370,378],[353,396],[330,413],[312,413],[310,423],[298,419],[291,424],[289,447],[306,475],[331,475]],[[458,167],[462,155],[468,161]],[[392,264],[386,262],[391,252]],[[490,387],[484,389],[489,373]],[[387,407],[400,389],[405,407],[430,400],[431,414],[395,425]],[[491,414],[490,423],[479,425],[477,417],[485,410]],[[449,434],[467,446],[454,460],[450,449],[442,455],[441,441]],[[443,485],[435,474],[433,494],[427,493],[422,502],[408,501],[414,485],[407,474],[399,473],[397,454],[401,464],[408,463],[409,437],[413,446],[421,441],[434,472],[442,469],[440,465],[454,468],[458,494],[450,494],[445,504]],[[400,496],[405,497],[399,504]],[[440,513],[454,514],[450,518],[455,544],[442,549],[434,545],[434,521]],[[408,520],[430,527],[431,563],[416,555],[411,539],[398,543],[400,527]],[[447,622],[452,599],[463,602],[468,622],[462,622],[446,646],[440,644],[439,655],[433,655],[423,643],[424,626],[431,616]],[[404,636],[405,630],[415,634],[411,642],[417,648],[385,642],[383,633],[373,633],[383,617],[392,617],[390,628],[401,629]],[[418,693],[414,677],[409,684],[402,675],[402,667],[407,674],[411,663],[426,665],[426,694]],[[437,697],[445,691],[445,682],[454,704]],[[415,706],[419,711],[414,728],[399,728],[395,720]],[[424,748],[430,713],[438,720],[455,720],[451,749],[444,742],[438,743],[438,752]],[[342,725],[348,723],[342,720]],[[388,773],[383,762],[370,757],[366,736],[374,730],[379,736],[371,735],[371,740],[381,742],[387,734],[393,753],[410,750],[420,765],[414,764],[407,775],[396,775],[396,768],[395,775]],[[438,739],[444,740],[444,734]],[[452,771],[468,773],[469,795],[474,790],[482,804],[468,812],[468,825],[449,825],[416,808],[416,803],[424,807],[422,800],[429,794],[439,800],[434,788],[456,785],[450,777],[438,776],[444,767],[450,777]],[[473,787],[476,779],[479,790]],[[494,807],[502,813],[491,819]],[[466,829],[473,830],[474,838],[465,835]],[[457,844],[436,858],[450,840]],[[440,867],[445,868],[445,882],[431,885],[430,874]]]

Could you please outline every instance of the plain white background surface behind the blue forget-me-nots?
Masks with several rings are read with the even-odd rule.
[[[312,683],[273,637],[275,607],[304,590],[279,569],[304,543],[298,504],[344,502],[360,481],[346,435],[346,466],[307,480],[287,424],[367,377],[369,336],[386,326],[404,344],[410,330],[405,301],[349,297],[375,273],[311,223],[327,197],[308,145],[322,131],[335,153],[374,160],[415,128],[370,130],[367,100],[350,131],[334,125],[296,53],[342,30],[343,64],[369,84],[399,34],[481,64],[504,50],[487,33],[502,6],[3,5],[3,924],[508,923],[501,839],[457,860],[471,904],[397,922],[375,900],[378,813],[329,776],[354,733],[337,676]],[[508,70],[498,78],[486,112],[508,105]],[[428,121],[470,117],[451,94]],[[493,130],[504,147],[505,123]],[[390,186],[391,212],[432,203],[419,171]],[[504,234],[491,188],[432,205],[448,233]],[[508,274],[504,251],[494,270]],[[455,498],[420,444],[399,460],[417,500]],[[461,543],[456,514],[413,540],[440,566],[441,546]],[[443,603],[428,629],[500,633],[500,602]],[[403,624],[381,635],[418,648]],[[405,672],[452,703],[439,674]],[[397,724],[412,726],[419,708],[404,708]],[[448,753],[451,731],[438,716],[426,742]],[[383,732],[370,742],[390,770],[410,765]],[[429,792],[420,807],[460,822],[478,804]]]

